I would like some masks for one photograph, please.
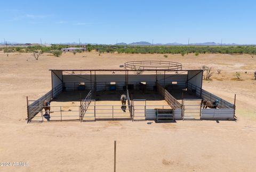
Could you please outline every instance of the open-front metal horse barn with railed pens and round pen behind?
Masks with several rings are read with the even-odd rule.
[[[52,89],[37,100],[27,98],[27,122],[235,119],[234,104],[202,89],[201,69],[175,62],[127,62],[118,69],[51,69]],[[121,94],[127,104],[122,105]],[[42,102],[51,102],[45,116]],[[202,100],[219,101],[203,108]]]

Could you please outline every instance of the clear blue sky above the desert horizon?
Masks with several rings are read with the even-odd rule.
[[[256,1],[2,1],[0,42],[256,44]]]

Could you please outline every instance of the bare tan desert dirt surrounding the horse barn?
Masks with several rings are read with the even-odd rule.
[[[119,68],[126,61],[153,59],[183,68],[212,66],[212,81],[203,88],[230,102],[236,93],[238,121],[25,121],[26,96],[37,99],[51,89],[50,68]],[[117,171],[255,171],[255,70],[250,55],[44,53],[36,61],[30,53],[0,52],[0,162],[29,163],[1,164],[0,171],[113,171],[114,140]]]

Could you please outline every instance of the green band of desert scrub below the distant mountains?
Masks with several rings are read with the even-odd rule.
[[[18,51],[20,53],[33,53],[35,50],[41,50],[43,53],[50,53],[52,50],[61,48],[81,47],[79,45],[55,45],[45,46],[27,46],[27,47],[1,47],[5,53]],[[199,54],[250,54],[252,58],[256,54],[256,46],[121,46],[121,45],[86,45],[87,51],[98,51],[99,53],[125,53],[125,54],[181,54],[188,53]],[[77,53],[79,53],[77,51]]]

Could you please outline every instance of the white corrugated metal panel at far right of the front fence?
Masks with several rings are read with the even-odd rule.
[[[234,109],[202,109],[201,119],[234,119]]]

